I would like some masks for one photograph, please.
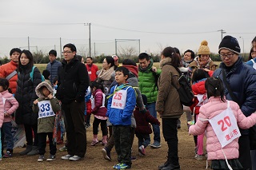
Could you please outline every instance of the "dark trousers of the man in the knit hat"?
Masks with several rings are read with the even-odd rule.
[[[242,135],[238,140],[239,157],[238,160],[242,164],[243,169],[252,169],[250,160],[250,140],[248,135]]]

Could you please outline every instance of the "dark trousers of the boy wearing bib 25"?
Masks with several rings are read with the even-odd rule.
[[[130,125],[114,125],[113,136],[115,151],[118,154],[118,163],[131,165],[130,152]]]

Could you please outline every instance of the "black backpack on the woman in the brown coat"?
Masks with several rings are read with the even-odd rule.
[[[178,84],[180,85],[180,88],[178,89],[176,85],[174,85],[174,88],[178,91],[179,100],[182,105],[192,105],[194,103],[194,93],[192,92],[190,83],[183,74],[178,78]]]

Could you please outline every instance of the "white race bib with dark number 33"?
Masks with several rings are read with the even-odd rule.
[[[43,117],[53,117],[55,113],[50,105],[50,101],[38,101],[38,119]]]

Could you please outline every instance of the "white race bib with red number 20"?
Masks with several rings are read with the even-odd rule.
[[[209,120],[210,125],[214,128],[214,132],[216,133],[219,142],[222,144],[222,148],[225,147],[226,144],[230,144],[230,142],[232,142],[234,139],[241,136],[237,120],[229,106],[230,102],[227,102],[227,109]]]

